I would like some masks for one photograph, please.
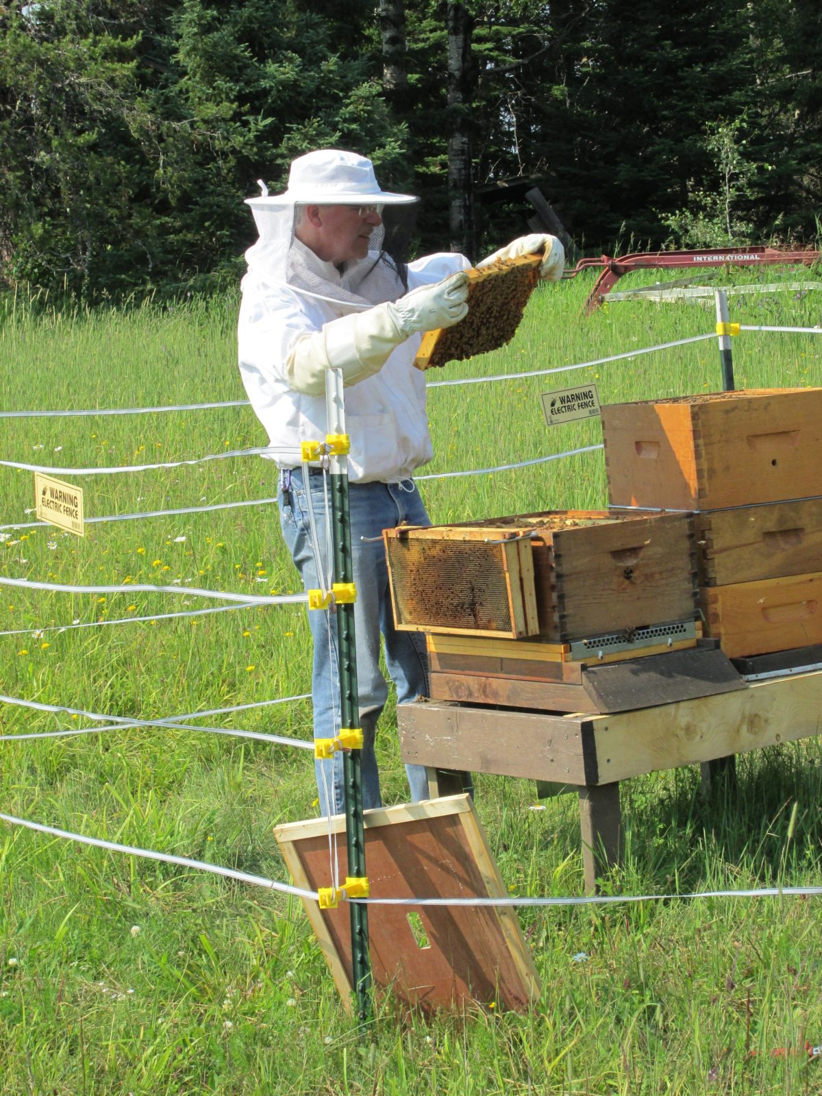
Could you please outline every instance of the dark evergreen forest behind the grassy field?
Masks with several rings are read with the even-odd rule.
[[[818,0],[0,5],[0,278],[85,300],[236,281],[242,198],[320,146],[479,258],[538,186],[580,251],[809,242]]]

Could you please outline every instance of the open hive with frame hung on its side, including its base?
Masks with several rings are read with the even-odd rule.
[[[697,646],[689,514],[555,511],[384,536],[397,627],[427,632],[433,699],[614,710],[592,667]]]

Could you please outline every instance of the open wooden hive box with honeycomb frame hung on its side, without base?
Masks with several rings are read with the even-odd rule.
[[[694,618],[689,514],[562,510],[384,538],[401,630],[566,643]]]

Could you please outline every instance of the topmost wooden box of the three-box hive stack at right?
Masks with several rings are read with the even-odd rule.
[[[822,388],[602,409],[612,505],[716,510],[819,493]]]

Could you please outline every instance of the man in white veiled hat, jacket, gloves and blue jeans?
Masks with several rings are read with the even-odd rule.
[[[328,433],[326,370],[342,370],[349,481],[362,786],[365,808],[379,807],[374,739],[388,695],[379,669],[385,639],[397,701],[426,692],[421,637],[393,627],[380,532],[430,525],[413,472],[433,456],[425,378],[413,367],[421,333],[448,328],[468,311],[464,255],[406,262],[418,198],[380,190],[370,160],[320,149],[294,160],[284,194],[248,198],[259,241],[246,252],[239,363],[246,390],[269,432],[279,468],[281,525],[306,590],[321,585],[315,549],[328,574],[326,483],[319,464],[306,482],[300,442]],[[544,252],[544,277],[561,277],[564,255],[551,236],[528,236],[490,255]],[[481,264],[480,264],[481,265]],[[311,547],[309,501],[317,522]],[[313,638],[313,733],[339,730],[336,627],[330,612],[308,615]],[[322,813],[343,810],[342,756],[318,761]],[[427,797],[425,770],[407,765],[411,798]]]

